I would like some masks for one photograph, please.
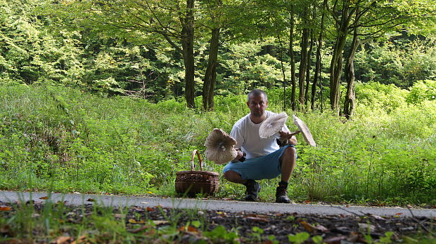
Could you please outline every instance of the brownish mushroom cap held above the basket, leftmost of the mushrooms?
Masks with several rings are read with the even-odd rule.
[[[217,164],[229,163],[238,156],[235,145],[233,137],[224,130],[215,128],[206,138],[205,156]]]

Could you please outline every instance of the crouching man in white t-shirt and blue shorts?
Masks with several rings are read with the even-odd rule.
[[[295,166],[297,152],[295,133],[290,133],[283,126],[280,132],[280,147],[275,137],[260,138],[259,127],[271,116],[267,94],[263,90],[252,90],[248,93],[247,106],[250,114],[238,120],[231,130],[231,137],[236,139],[238,156],[224,167],[224,178],[229,182],[244,184],[247,187],[245,201],[256,201],[260,191],[259,179],[272,179],[281,175],[281,182],[276,189],[276,203],[290,203],[288,198],[288,182]],[[246,154],[244,156],[244,153]]]

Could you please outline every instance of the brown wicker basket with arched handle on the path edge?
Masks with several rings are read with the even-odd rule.
[[[195,154],[198,156],[200,171],[194,170]],[[176,173],[176,192],[194,196],[195,194],[212,194],[218,190],[219,174],[217,172],[203,171],[200,153],[194,150],[191,157],[191,170]]]

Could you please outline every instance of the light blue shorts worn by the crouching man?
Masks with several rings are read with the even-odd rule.
[[[223,173],[231,170],[241,175],[242,179],[273,179],[281,175],[280,158],[283,151],[287,147],[294,147],[293,145],[286,145],[277,151],[261,156],[259,158],[250,158],[243,162],[227,163],[224,167]],[[295,147],[294,147],[295,148]],[[295,154],[295,160],[297,154]]]

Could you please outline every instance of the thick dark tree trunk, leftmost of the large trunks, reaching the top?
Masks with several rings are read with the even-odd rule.
[[[194,8],[195,0],[186,0],[186,18],[181,29],[181,47],[185,65],[185,98],[188,107],[195,107],[194,87]]]

